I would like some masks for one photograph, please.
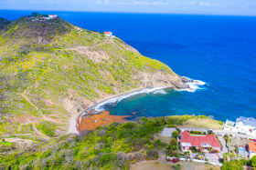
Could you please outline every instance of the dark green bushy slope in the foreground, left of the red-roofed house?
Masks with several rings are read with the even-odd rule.
[[[33,149],[13,150],[0,159],[0,169],[129,169],[131,163],[165,154],[167,144],[155,138],[165,126],[176,127],[200,118],[205,116],[142,117],[138,122],[113,123],[80,138],[64,136]]]

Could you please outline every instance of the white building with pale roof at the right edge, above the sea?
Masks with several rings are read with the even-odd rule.
[[[227,120],[223,129],[240,134],[256,136],[256,119],[253,117],[240,116],[237,118],[236,122]]]

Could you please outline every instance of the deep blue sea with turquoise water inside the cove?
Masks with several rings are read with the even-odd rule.
[[[112,31],[141,54],[169,65],[178,75],[206,82],[196,92],[134,95],[109,107],[113,115],[214,115],[256,118],[256,17],[80,12],[57,14],[74,25]],[[16,19],[30,11],[0,11]]]

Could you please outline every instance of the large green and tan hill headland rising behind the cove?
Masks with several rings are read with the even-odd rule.
[[[0,80],[0,135],[64,134],[71,115],[103,97],[185,87],[167,65],[119,38],[43,15],[19,18],[1,31]]]

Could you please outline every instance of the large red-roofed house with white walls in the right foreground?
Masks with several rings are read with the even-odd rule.
[[[220,151],[221,145],[215,135],[190,135],[189,132],[183,131],[180,133],[180,146],[183,151],[189,151],[192,147],[196,147],[201,152],[209,150]]]

